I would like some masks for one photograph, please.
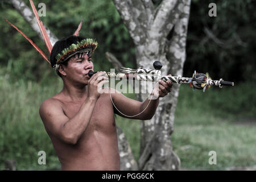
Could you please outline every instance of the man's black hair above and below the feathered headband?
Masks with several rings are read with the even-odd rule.
[[[50,57],[51,66],[53,67],[56,64],[56,61],[57,61],[56,56],[59,53],[61,53],[61,51],[63,51],[63,49],[68,48],[69,46],[71,46],[71,44],[77,44],[77,42],[81,42],[83,39],[86,39],[86,38],[83,36],[71,35],[71,36],[68,36],[67,38],[57,41],[54,44],[54,46],[52,47],[52,52],[51,52],[51,57]],[[61,64],[68,65],[69,59]],[[61,77],[59,71],[57,72],[57,74]]]

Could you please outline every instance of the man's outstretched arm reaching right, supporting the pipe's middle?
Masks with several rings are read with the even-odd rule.
[[[159,84],[156,84],[153,92],[144,102],[132,100],[126,96],[123,96],[123,94],[121,94],[117,90],[114,90],[115,93],[112,93],[112,97],[113,97],[114,105],[119,110],[117,111],[117,114],[122,117],[130,118],[130,119],[141,119],[141,120],[151,119],[155,115],[156,108],[158,107],[159,97],[164,97],[169,92],[171,92],[171,87],[172,87],[171,81],[159,82]],[[151,97],[155,97],[156,99],[150,100]],[[137,116],[127,117],[126,115],[129,115],[129,116],[137,115]]]

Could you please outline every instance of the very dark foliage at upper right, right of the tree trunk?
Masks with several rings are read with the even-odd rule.
[[[216,17],[208,16],[212,2],[217,6]],[[196,69],[209,72],[213,78],[256,81],[255,5],[251,0],[192,0],[184,75]]]

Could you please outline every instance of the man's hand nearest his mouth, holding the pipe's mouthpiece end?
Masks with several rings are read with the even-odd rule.
[[[109,82],[109,78],[105,77],[106,72],[97,72],[88,81],[88,98],[98,99],[103,93],[102,86]]]

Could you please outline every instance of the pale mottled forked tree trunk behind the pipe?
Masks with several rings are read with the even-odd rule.
[[[134,40],[137,64],[152,69],[152,63],[159,60],[163,75],[182,76],[190,0],[163,0],[155,10],[151,1],[113,1]],[[144,18],[138,22],[138,17]],[[141,122],[139,169],[180,168],[170,139],[178,95],[179,85],[174,84],[172,92],[164,100],[160,99],[154,117]],[[146,96],[141,96],[141,100],[145,99]]]

